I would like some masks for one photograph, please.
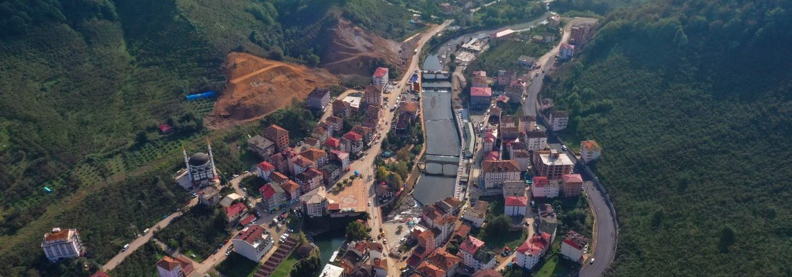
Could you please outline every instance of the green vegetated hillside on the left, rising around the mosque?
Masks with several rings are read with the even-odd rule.
[[[0,2],[0,275],[85,276],[142,226],[188,198],[166,181],[181,146],[214,138],[220,170],[239,172],[222,132],[203,128],[230,51],[322,53],[337,14],[383,36],[409,14],[374,0],[8,0]],[[169,123],[176,133],[161,135]],[[224,159],[224,161],[223,161]],[[52,189],[46,193],[44,187]],[[53,226],[78,228],[86,260],[49,264]]]

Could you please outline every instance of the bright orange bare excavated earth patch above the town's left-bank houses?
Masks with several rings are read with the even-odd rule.
[[[277,62],[232,52],[223,73],[228,84],[204,122],[211,129],[223,129],[238,122],[264,118],[291,104],[291,99],[306,99],[316,87],[338,84],[325,69]]]

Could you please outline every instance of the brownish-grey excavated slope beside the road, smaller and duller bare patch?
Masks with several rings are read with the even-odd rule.
[[[338,17],[326,49],[322,55],[323,68],[334,74],[361,76],[370,76],[371,68],[383,63],[403,71],[409,54],[413,54],[413,48],[377,36],[343,17]]]

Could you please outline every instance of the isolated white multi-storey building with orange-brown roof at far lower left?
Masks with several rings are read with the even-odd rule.
[[[82,256],[85,248],[77,229],[61,230],[52,228],[50,233],[44,234],[44,241],[41,242],[41,249],[50,261],[69,259]]]

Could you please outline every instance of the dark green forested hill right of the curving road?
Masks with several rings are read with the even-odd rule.
[[[657,1],[609,13],[550,80],[566,140],[604,148],[608,275],[792,275],[790,45],[790,1]]]

